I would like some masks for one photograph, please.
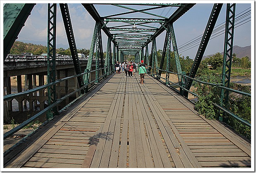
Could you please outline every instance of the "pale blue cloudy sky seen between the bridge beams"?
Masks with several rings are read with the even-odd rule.
[[[68,1],[68,2],[71,2],[71,1]],[[79,1],[75,1],[75,2],[79,2]],[[244,2],[247,2],[247,3],[244,3]],[[236,5],[236,14],[251,7],[250,3],[254,4],[254,1],[239,1],[239,3],[237,3]],[[92,40],[92,33],[93,33],[95,21],[92,19],[90,14],[88,14],[88,12],[80,3],[76,3],[76,4],[68,3],[68,5],[69,5],[69,12],[71,16],[74,36],[76,40],[76,46],[78,49],[82,49],[82,48],[89,49],[91,40]],[[176,36],[178,47],[184,44],[185,42],[192,40],[193,38],[204,33],[212,7],[213,7],[213,2],[208,3],[208,1],[197,1],[197,4],[194,7],[192,7],[192,9],[190,9],[187,13],[185,13],[182,17],[180,17],[180,19],[175,21],[173,26],[175,30],[175,36]],[[119,11],[120,9],[116,7],[108,7],[106,5],[97,5],[96,9],[99,11],[99,13],[102,16],[107,14],[112,14],[113,11],[115,13],[129,11],[126,9],[122,9],[121,11]],[[159,9],[157,10],[158,11],[155,11],[155,12],[160,14],[161,11]],[[175,8],[171,9],[169,16],[174,11],[175,11]],[[216,25],[223,23],[225,21],[225,11],[226,11],[226,4],[224,4],[222,7],[222,10],[220,12],[220,16],[218,18]],[[163,15],[165,15],[166,12],[167,10],[165,10]],[[138,13],[134,13],[134,16],[146,17]],[[47,42],[47,4],[46,3],[44,4],[40,2],[37,3],[37,5],[33,8],[31,15],[28,17],[25,23],[25,26],[22,28],[18,37],[19,38],[17,40],[28,40],[28,42],[29,40],[33,40],[33,41],[36,41],[37,44],[40,44],[41,42],[45,42],[45,43]],[[165,31],[156,38],[157,49],[163,49],[164,37],[165,37]],[[104,34],[104,32],[102,32],[102,39],[103,39],[103,49],[105,51],[106,44],[107,44],[107,36]],[[235,28],[234,45],[245,47],[245,46],[251,45],[251,41],[252,41],[251,40],[251,21],[242,26]],[[59,5],[57,5],[57,44],[68,45],[68,42],[66,39],[66,33],[64,30],[64,25],[62,21],[62,16],[59,10]],[[224,45],[224,34],[210,40],[204,55],[215,54],[218,51],[222,52],[223,45]],[[184,51],[184,49],[183,50],[181,49],[179,51],[179,54],[182,54],[183,56],[190,56],[190,58],[193,59],[197,53],[197,49],[198,49],[198,46],[186,51]],[[149,45],[149,52],[150,50],[151,50],[151,44]]]

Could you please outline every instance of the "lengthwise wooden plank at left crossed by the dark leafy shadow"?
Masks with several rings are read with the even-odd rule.
[[[92,143],[88,149],[88,152],[84,158],[83,164],[81,166],[81,168],[90,168],[91,162],[92,162],[92,158],[93,155],[95,153],[96,150],[96,146],[98,144],[98,141],[100,139],[101,133],[102,133],[102,127],[100,127],[100,129],[95,133],[95,135],[92,138]]]

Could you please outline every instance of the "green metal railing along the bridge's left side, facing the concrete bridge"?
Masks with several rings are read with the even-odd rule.
[[[113,65],[112,65],[113,66]],[[65,77],[65,78],[62,78],[62,79],[56,79],[55,82],[51,82],[49,84],[46,84],[46,85],[43,85],[43,86],[38,86],[36,88],[33,88],[33,89],[30,89],[30,90],[27,90],[27,91],[24,91],[24,92],[20,92],[20,93],[16,93],[16,94],[9,94],[9,95],[5,95],[3,97],[4,101],[12,101],[12,99],[15,99],[17,97],[20,97],[20,96],[26,96],[28,94],[31,94],[31,93],[34,93],[36,91],[40,91],[40,90],[44,90],[44,89],[47,89],[48,87],[51,87],[51,86],[54,86],[56,84],[59,84],[61,82],[65,82],[66,80],[68,79],[73,79],[73,78],[76,78],[78,76],[83,76],[83,75],[86,75],[86,74],[89,74],[89,73],[92,73],[92,72],[96,72],[96,71],[99,71],[102,70],[102,69],[107,69],[109,68],[108,66],[107,67],[104,67],[104,68],[100,68],[100,69],[97,69],[97,70],[92,70],[92,71],[89,71],[87,70],[87,72],[83,72],[81,74],[78,74],[78,75],[73,75],[73,76],[69,76],[69,77]],[[36,115],[34,115],[33,117],[27,119],[26,121],[22,122],[21,124],[19,124],[18,126],[14,127],[14,129],[11,129],[10,131],[6,132],[4,134],[4,139],[8,138],[9,136],[13,135],[14,133],[16,133],[17,131],[19,131],[20,129],[24,128],[25,126],[27,126],[28,124],[30,124],[31,122],[33,122],[35,119],[37,119],[38,117],[40,117],[41,115],[45,115],[48,111],[52,110],[52,108],[55,108],[57,105],[59,105],[60,103],[62,103],[62,101],[65,101],[66,98],[69,98],[69,96],[72,96],[73,94],[76,94],[77,92],[81,91],[81,90],[85,90],[85,88],[88,87],[88,90],[89,91],[93,86],[95,86],[95,83],[108,77],[109,75],[111,75],[112,73],[114,72],[114,70],[112,71],[108,71],[106,72],[104,75],[101,75],[97,78],[96,76],[96,79],[92,80],[92,81],[89,81],[87,84],[85,84],[84,86],[82,86],[81,88],[67,94],[66,96],[63,96],[62,98],[58,98],[56,102],[50,104],[47,108],[41,110],[40,112],[38,112]],[[83,96],[84,94],[82,94],[81,96]],[[64,108],[62,108],[62,110],[64,110]],[[62,111],[60,110],[60,111]]]

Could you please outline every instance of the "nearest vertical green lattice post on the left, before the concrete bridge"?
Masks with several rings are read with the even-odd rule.
[[[57,4],[48,4],[47,25],[47,83],[56,81],[56,21]],[[56,85],[48,87],[48,105],[56,102]],[[46,118],[52,118],[57,114],[57,107],[47,112]]]

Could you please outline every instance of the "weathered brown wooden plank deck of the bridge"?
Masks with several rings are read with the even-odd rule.
[[[155,79],[123,76],[47,124],[16,157],[8,154],[5,167],[251,167],[246,140]]]

